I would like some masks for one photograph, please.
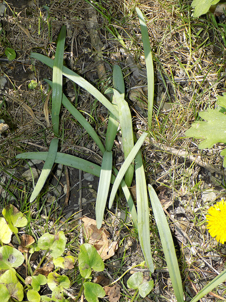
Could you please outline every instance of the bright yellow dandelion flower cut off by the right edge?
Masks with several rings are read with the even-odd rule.
[[[206,215],[207,226],[212,237],[224,244],[226,241],[226,201],[222,199],[210,207]]]

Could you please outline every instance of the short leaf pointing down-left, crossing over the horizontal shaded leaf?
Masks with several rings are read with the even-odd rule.
[[[55,162],[57,148],[58,148],[58,139],[53,138],[49,146],[49,152],[47,152],[46,162],[42,168],[42,172],[39,176],[38,182],[36,183],[34,191],[31,194],[30,202],[34,201],[35,198],[38,196],[39,192],[42,190],[46,182],[46,179],[49,176],[49,173],[52,169],[52,166]]]

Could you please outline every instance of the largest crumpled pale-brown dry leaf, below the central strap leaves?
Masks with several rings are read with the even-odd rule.
[[[96,220],[83,217],[85,236],[89,244],[92,244],[103,260],[115,255],[115,250],[118,248],[118,242],[109,239],[108,231],[101,227],[99,230],[96,227]]]

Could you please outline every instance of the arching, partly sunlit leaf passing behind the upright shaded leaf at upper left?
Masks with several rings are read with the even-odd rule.
[[[53,68],[53,60],[48,58],[47,56],[43,56],[40,53],[31,53],[30,55],[32,58],[41,61],[42,63],[46,64],[50,68]],[[83,79],[81,76],[77,75],[74,71],[68,69],[67,67],[63,66],[63,75],[66,76],[68,79],[72,80],[82,88],[84,88],[87,92],[93,95],[98,101],[100,101],[112,114],[115,115],[117,119],[119,119],[117,109],[102,95],[99,90],[97,90],[93,85]]]

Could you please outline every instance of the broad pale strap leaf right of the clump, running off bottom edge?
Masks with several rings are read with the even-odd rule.
[[[177,299],[177,302],[183,302],[184,296],[180,277],[180,270],[170,228],[165,217],[164,211],[162,209],[162,205],[160,204],[159,198],[151,185],[148,185],[148,191],[152,204],[152,210],[155,216],[155,221],[159,230],[159,235],[161,238],[165,260],[169,270],[171,283],[174,289],[174,294]]]

